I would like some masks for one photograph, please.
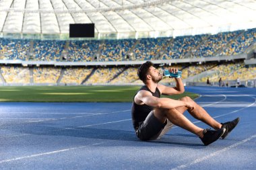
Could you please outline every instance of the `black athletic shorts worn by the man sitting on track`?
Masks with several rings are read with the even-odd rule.
[[[148,114],[146,120],[139,122],[139,128],[136,130],[136,135],[140,140],[155,140],[161,134],[167,121],[160,122],[156,116],[154,116],[154,110]]]

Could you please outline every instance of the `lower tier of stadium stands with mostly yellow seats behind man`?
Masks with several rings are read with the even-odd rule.
[[[23,67],[21,65],[1,65],[1,81],[8,84],[67,84],[67,85],[92,85],[92,84],[141,84],[137,77],[137,66],[119,67]],[[184,81],[203,82],[207,77],[210,82],[253,80],[256,77],[256,67],[245,67],[241,62],[211,62],[198,64],[172,65],[183,71]],[[168,66],[157,69],[167,69]],[[30,73],[32,71],[32,73]],[[191,80],[192,78],[192,80]],[[32,79],[32,80],[31,80]],[[172,83],[174,79],[164,77],[161,83]]]

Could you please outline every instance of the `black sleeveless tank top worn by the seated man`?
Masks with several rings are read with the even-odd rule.
[[[141,91],[141,90],[150,91],[150,89],[149,89],[146,85],[142,86],[142,87],[139,89],[139,91]],[[139,91],[137,91],[137,93],[138,93]],[[137,93],[136,93],[136,94],[137,94]],[[154,97],[160,98],[161,93],[160,93],[158,87],[156,87],[155,93],[153,93],[152,91],[150,91],[150,93],[152,93],[152,95],[153,95]],[[134,97],[135,97],[135,96],[134,96]],[[137,105],[137,104],[134,102],[134,97],[133,97],[133,104],[132,104],[132,106],[131,106],[131,119],[132,119],[132,121],[133,121],[133,128],[134,128],[135,130],[137,130],[137,128],[139,127],[139,122],[144,121],[144,120],[147,118],[148,114],[150,114],[150,112],[151,112],[152,110],[154,110],[154,108],[153,108],[152,106],[146,105],[146,104]]]

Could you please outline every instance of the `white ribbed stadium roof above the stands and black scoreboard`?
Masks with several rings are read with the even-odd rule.
[[[255,0],[0,0],[0,33],[68,34],[94,23],[96,36],[158,37],[256,28]]]

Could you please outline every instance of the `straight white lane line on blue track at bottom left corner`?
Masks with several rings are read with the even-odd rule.
[[[63,153],[63,152],[66,152],[66,151],[72,151],[72,150],[79,149],[79,148],[86,148],[88,146],[95,146],[95,145],[99,145],[99,144],[102,144],[102,143],[104,143],[104,142],[88,144],[88,145],[85,145],[85,146],[78,146],[78,147],[73,147],[73,148],[64,148],[64,149],[57,150],[57,151],[51,151],[51,152],[47,152],[47,153],[38,153],[38,154],[34,154],[34,155],[27,155],[27,156],[24,156],[24,157],[4,159],[4,160],[0,161],[0,163],[7,163],[7,162],[11,162],[11,161],[19,161],[19,160],[22,160],[22,159],[30,159],[30,158],[34,158],[34,157],[40,157],[40,156],[43,156],[43,155],[53,155],[53,154],[56,154],[56,153]]]

